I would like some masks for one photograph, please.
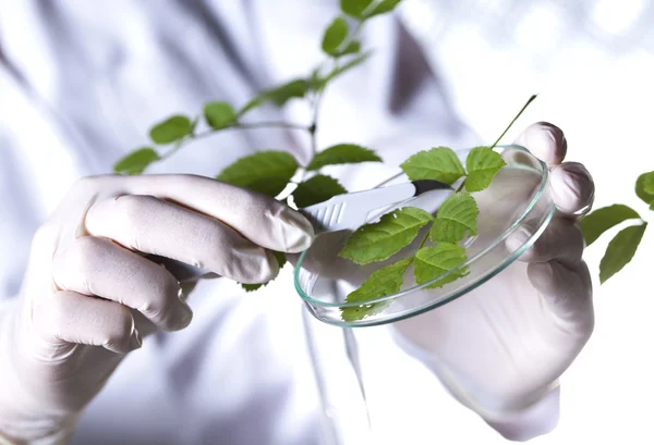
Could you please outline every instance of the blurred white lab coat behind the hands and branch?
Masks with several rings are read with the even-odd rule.
[[[320,30],[337,3],[0,3],[0,298],[17,294],[35,230],[76,178],[109,173],[147,143],[152,123],[171,113],[196,114],[211,99],[238,107],[261,88],[307,73],[322,60]],[[435,141],[476,141],[397,18],[372,23],[364,41],[376,54],[330,88],[318,140],[368,145],[387,165],[336,169],[348,187],[375,185]],[[308,122],[307,110],[293,103],[252,115],[279,119]],[[303,160],[307,143],[290,131],[227,132],[152,172],[213,176],[258,149]],[[227,280],[201,283],[190,301],[191,326],[157,334],[130,355],[86,410],[73,443],[319,444],[319,400],[289,272],[254,295]]]

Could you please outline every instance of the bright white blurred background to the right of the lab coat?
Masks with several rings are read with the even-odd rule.
[[[544,120],[565,129],[567,159],[583,162],[595,178],[594,207],[626,203],[654,222],[633,191],[638,175],[654,170],[653,1],[405,0],[400,13],[484,139],[494,140],[537,92],[521,123]],[[558,428],[531,443],[654,443],[650,227],[633,261],[602,286],[600,260],[618,228],[586,250],[595,332],[561,379]],[[447,437],[441,443],[506,443],[464,409],[434,415]]]

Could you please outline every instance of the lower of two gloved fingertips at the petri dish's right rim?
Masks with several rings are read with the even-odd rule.
[[[595,198],[595,184],[589,171],[578,162],[565,162],[549,174],[549,189],[556,209],[564,217],[588,213]]]

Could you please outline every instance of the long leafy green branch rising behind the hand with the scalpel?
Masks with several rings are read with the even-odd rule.
[[[320,170],[335,164],[382,162],[382,158],[374,150],[356,144],[338,144],[318,152],[316,133],[320,101],[331,82],[370,58],[371,52],[362,52],[359,39],[364,24],[375,16],[391,12],[400,2],[340,0],[342,15],[336,17],[323,33],[322,49],[328,59],[308,76],[261,91],[240,109],[225,101],[211,101],[203,107],[202,116],[169,116],[150,128],[149,138],[154,146],[141,147],[128,153],[114,164],[114,173],[143,174],[152,164],[172,157],[190,143],[228,129],[288,128],[305,132],[310,136],[312,159],[306,165],[301,165],[294,157],[282,150],[258,151],[238,159],[223,169],[216,180],[278,199],[292,199],[298,207],[307,207],[347,193],[336,178],[323,174]],[[247,119],[256,108],[265,104],[281,108],[294,99],[306,100],[311,106],[310,123],[252,122]],[[197,131],[201,120],[208,127],[204,132]],[[293,182],[298,172],[301,180]],[[289,184],[295,187],[294,190],[289,196],[281,196]],[[286,257],[281,252],[274,254],[282,267]],[[252,292],[265,284],[242,286]]]

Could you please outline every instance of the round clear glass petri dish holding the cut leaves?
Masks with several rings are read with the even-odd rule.
[[[465,164],[471,149],[457,152]],[[301,254],[294,269],[294,285],[308,311],[318,320],[346,327],[373,326],[403,320],[446,305],[476,288],[500,273],[520,257],[541,236],[552,217],[555,206],[548,187],[547,165],[521,146],[496,147],[506,161],[491,186],[473,193],[480,214],[477,234],[460,243],[468,260],[433,280],[416,284],[411,265],[403,276],[400,292],[366,301],[348,302],[347,296],[356,289],[372,273],[396,261],[415,255],[420,242],[429,226],[419,233],[415,240],[388,260],[355,264],[339,257],[349,235],[356,230],[325,233],[316,236],[314,244]],[[383,186],[409,181],[398,175]],[[453,184],[456,188],[458,184]],[[398,207],[417,207],[436,214],[443,194],[427,191],[402,202]],[[392,211],[395,209],[388,209]],[[373,222],[373,221],[368,221]],[[529,236],[520,243],[511,237],[522,226],[529,227]],[[511,237],[511,242],[507,239]],[[428,244],[427,244],[428,245]],[[468,274],[441,287],[429,286],[450,274],[465,270]],[[352,313],[363,309],[365,316],[353,320]]]

